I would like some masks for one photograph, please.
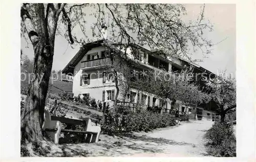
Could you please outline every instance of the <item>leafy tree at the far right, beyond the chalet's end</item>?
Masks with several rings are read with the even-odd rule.
[[[225,73],[207,80],[210,89],[210,97],[218,106],[217,111],[221,115],[221,122],[224,122],[226,114],[237,107],[236,104],[236,82],[231,76]]]

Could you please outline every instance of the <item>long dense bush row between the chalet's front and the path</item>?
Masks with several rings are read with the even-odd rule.
[[[151,131],[156,128],[164,128],[176,125],[175,118],[167,113],[152,113],[141,111],[140,113],[124,111],[122,113],[105,110],[105,120],[102,130],[105,133],[121,133],[131,131]]]

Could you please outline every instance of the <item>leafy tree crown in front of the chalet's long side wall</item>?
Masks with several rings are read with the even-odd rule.
[[[160,73],[160,74],[159,74]],[[186,109],[190,104],[208,102],[208,95],[193,83],[192,68],[185,67],[180,73],[150,72],[149,78],[140,80],[140,89],[151,92],[163,99],[172,101],[172,109],[176,101],[181,101]]]

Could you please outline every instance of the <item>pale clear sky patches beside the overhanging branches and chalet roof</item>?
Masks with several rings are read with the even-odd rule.
[[[187,15],[184,20],[197,19],[202,4],[185,4]],[[87,10],[88,13],[92,10]],[[193,54],[193,59],[202,59],[203,62],[197,62],[200,66],[206,68],[212,73],[226,71],[236,77],[236,5],[234,4],[205,4],[205,19],[208,19],[214,25],[214,31],[204,33],[207,38],[214,43],[212,54],[208,58],[203,58],[201,54]],[[88,29],[94,22],[94,19],[87,19]],[[90,32],[90,30],[88,30]],[[79,35],[79,33],[78,33]],[[29,41],[28,41],[29,42]],[[21,48],[24,55],[33,59],[34,52],[32,44],[22,38]],[[79,51],[80,46],[71,48],[68,41],[60,35],[55,38],[54,58],[52,70],[58,71],[68,64],[73,56]]]

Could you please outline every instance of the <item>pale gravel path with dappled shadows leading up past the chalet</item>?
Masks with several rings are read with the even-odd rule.
[[[100,135],[98,143],[60,145],[50,156],[205,156],[203,135],[212,124],[190,121],[148,133]]]

